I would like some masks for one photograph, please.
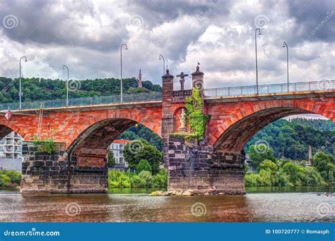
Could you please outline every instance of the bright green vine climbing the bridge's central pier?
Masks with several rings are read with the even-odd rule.
[[[199,87],[194,87],[192,95],[186,99],[187,121],[192,134],[198,140],[204,139],[209,117],[204,114],[203,102]]]

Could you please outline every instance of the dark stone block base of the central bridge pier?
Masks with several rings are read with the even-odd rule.
[[[243,154],[216,152],[211,146],[188,145],[180,137],[170,137],[167,145],[168,190],[245,194]]]

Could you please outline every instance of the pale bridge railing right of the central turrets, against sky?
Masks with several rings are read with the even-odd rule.
[[[290,84],[259,85],[258,94],[277,94],[285,92],[322,91],[335,89],[335,80],[315,82],[293,82]],[[236,97],[257,94],[257,86],[223,87],[204,89],[205,97]]]

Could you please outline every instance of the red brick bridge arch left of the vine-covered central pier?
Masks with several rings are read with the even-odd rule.
[[[104,167],[107,163],[107,148],[131,126],[141,123],[160,136],[161,113],[151,113],[150,110],[128,109],[96,113],[71,132],[65,144],[66,152],[70,156],[76,156],[76,166]]]

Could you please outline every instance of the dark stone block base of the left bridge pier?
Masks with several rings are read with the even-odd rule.
[[[20,192],[107,192],[105,167],[80,167],[76,156],[59,151],[53,155],[37,152],[33,143],[23,144]]]

